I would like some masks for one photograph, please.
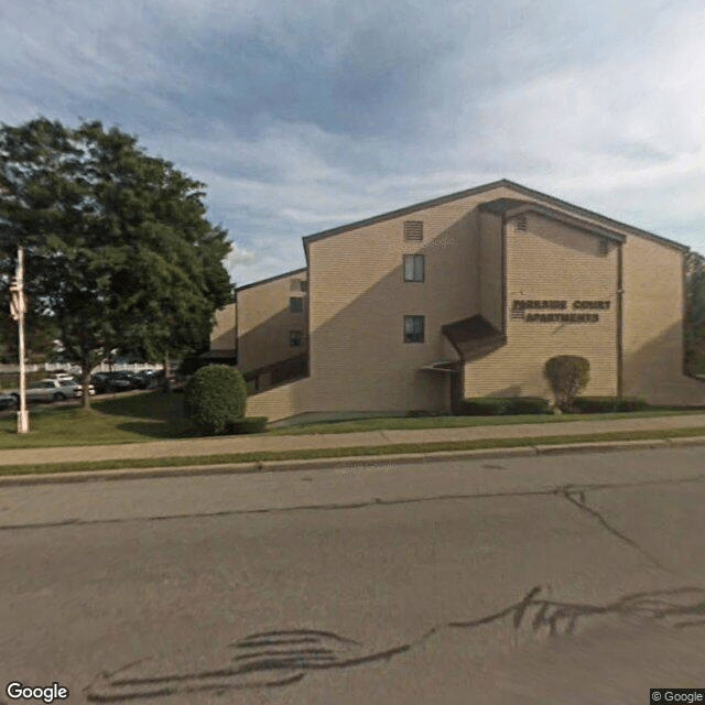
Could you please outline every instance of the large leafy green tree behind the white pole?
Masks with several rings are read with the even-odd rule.
[[[230,245],[204,187],[99,121],[0,128],[0,286],[23,246],[25,289],[80,365],[85,405],[109,350],[197,349],[230,301]]]

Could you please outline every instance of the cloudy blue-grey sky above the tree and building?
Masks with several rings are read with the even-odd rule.
[[[204,182],[238,285],[499,178],[705,253],[704,37],[703,0],[3,0],[0,122]]]

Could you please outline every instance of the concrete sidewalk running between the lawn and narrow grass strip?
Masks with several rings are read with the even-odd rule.
[[[253,453],[261,451],[300,451],[310,448],[395,445],[401,443],[434,443],[496,438],[540,440],[546,436],[570,436],[609,432],[659,431],[693,427],[703,429],[703,435],[705,435],[705,413],[605,421],[597,420],[467,426],[462,429],[388,430],[368,431],[362,433],[312,434],[297,436],[227,436],[155,441],[150,443],[131,443],[122,445],[26,449],[18,448],[0,451],[0,465],[205,456],[232,453]]]

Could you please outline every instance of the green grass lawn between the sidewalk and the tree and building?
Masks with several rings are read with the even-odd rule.
[[[160,390],[91,399],[91,409],[76,405],[40,404],[30,409],[30,433],[18,435],[14,414],[0,417],[0,449],[70,445],[110,445],[193,437],[183,416],[183,395]],[[614,414],[521,415],[521,416],[426,416],[377,417],[316,423],[268,431],[268,435],[351,433],[383,429],[443,429],[518,423],[570,423],[590,419],[634,419],[692,413],[644,411]]]

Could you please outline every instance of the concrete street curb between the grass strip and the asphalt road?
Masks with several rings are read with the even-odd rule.
[[[555,445],[529,445],[505,448],[477,448],[471,451],[438,451],[437,453],[398,453],[390,455],[357,455],[332,458],[292,460],[260,460],[227,463],[221,465],[186,465],[183,467],[119,468],[115,470],[86,470],[77,473],[47,473],[35,475],[0,476],[0,487],[54,485],[68,482],[95,482],[105,480],[139,480],[162,477],[198,477],[208,475],[250,475],[256,473],[283,473],[291,470],[367,469],[390,467],[403,463],[416,465],[438,460],[481,460],[541,455],[568,455],[573,453],[606,453],[638,449],[666,449],[705,445],[705,436],[680,438],[646,438],[639,441],[598,441],[595,443],[565,443]]]

